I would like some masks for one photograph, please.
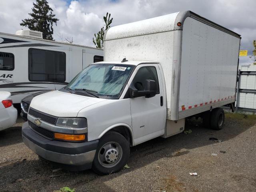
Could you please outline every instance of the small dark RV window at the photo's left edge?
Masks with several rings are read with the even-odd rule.
[[[14,70],[14,54],[0,52],[0,70]]]

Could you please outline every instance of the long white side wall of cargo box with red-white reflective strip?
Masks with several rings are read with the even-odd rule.
[[[182,33],[179,119],[235,101],[240,38],[186,18]]]

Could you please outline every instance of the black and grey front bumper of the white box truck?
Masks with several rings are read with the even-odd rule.
[[[36,154],[52,162],[79,166],[79,170],[89,169],[98,146],[98,140],[75,143],[48,140],[34,132],[25,122],[22,125],[23,142]]]

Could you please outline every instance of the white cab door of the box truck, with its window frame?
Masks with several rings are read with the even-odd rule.
[[[131,85],[137,90],[144,90],[148,79],[156,81],[157,84],[155,96],[130,98],[134,144],[139,144],[163,134],[163,85],[158,64],[140,64],[134,72],[136,74]]]

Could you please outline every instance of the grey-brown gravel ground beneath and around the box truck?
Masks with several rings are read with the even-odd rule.
[[[227,114],[220,131],[190,120],[186,130],[191,129],[191,134],[156,138],[135,146],[131,148],[130,168],[107,176],[92,170],[52,172],[56,165],[38,159],[23,144],[22,122],[18,119],[14,127],[0,132],[1,192],[52,192],[64,186],[76,192],[256,191],[255,116]],[[210,137],[222,142],[213,142]],[[190,176],[190,172],[198,176]]]

